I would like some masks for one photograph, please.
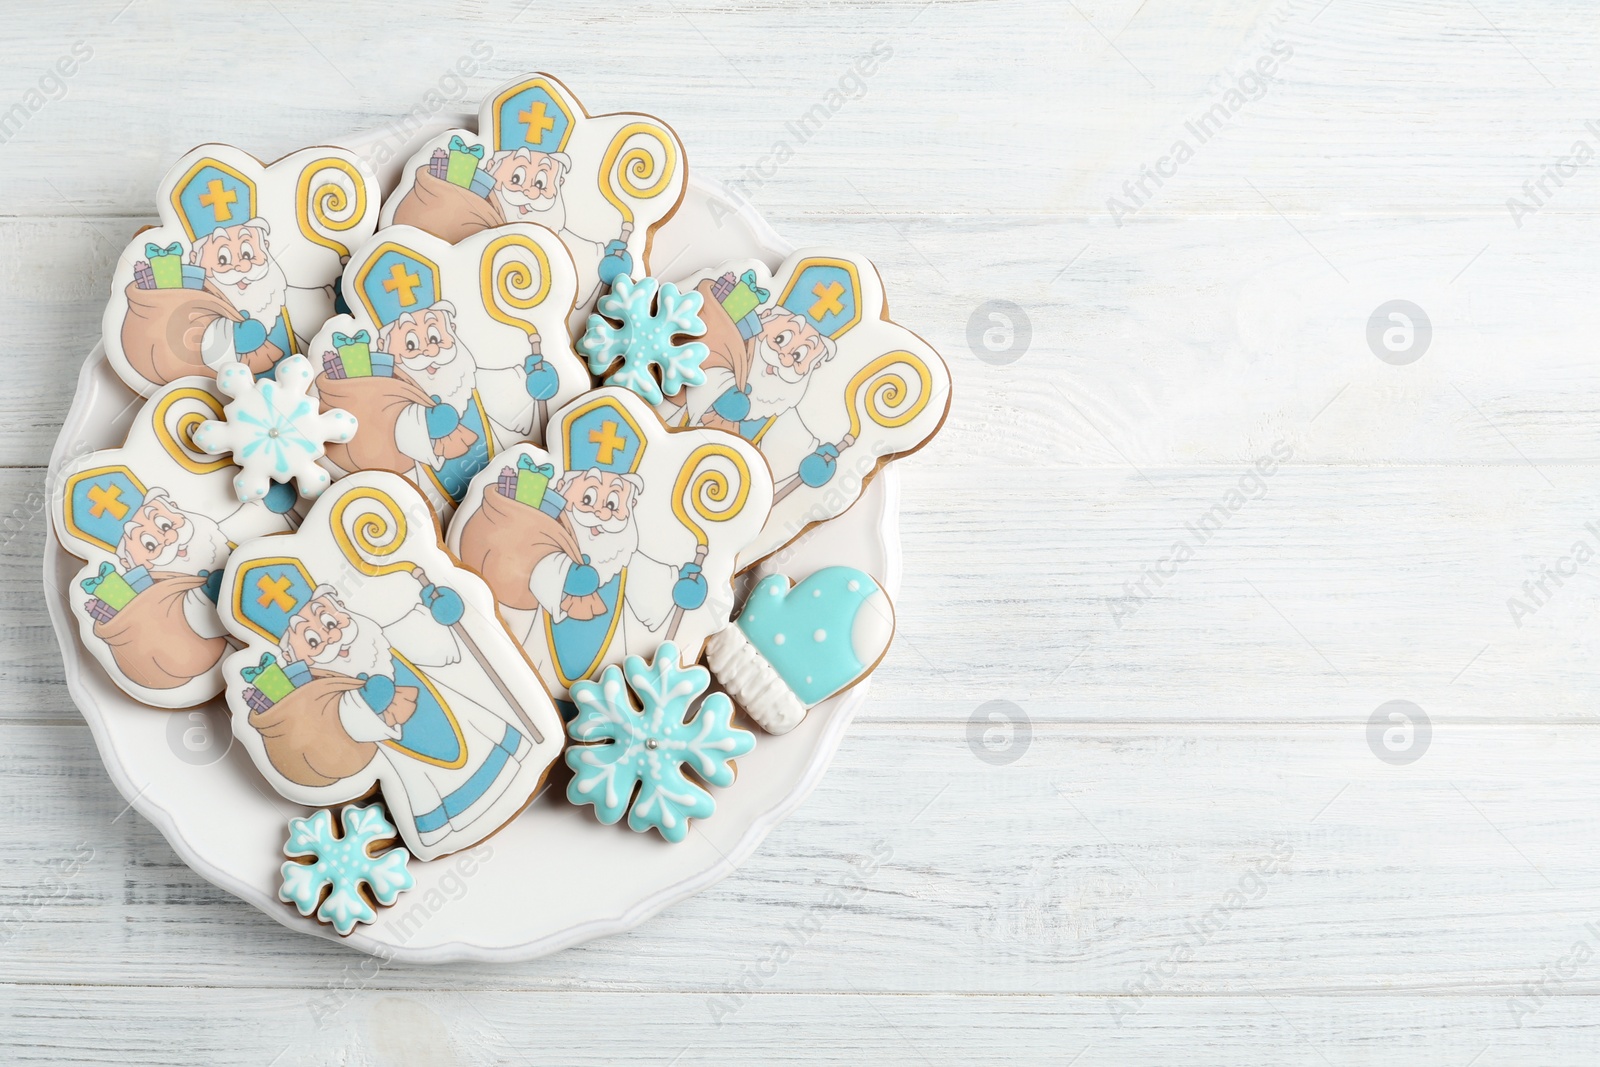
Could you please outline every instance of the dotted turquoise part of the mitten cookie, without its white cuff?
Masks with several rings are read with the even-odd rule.
[[[870,605],[880,600],[882,605]],[[829,566],[789,587],[773,574],[750,590],[739,629],[806,707],[870,669],[893,633],[878,582],[853,566]]]

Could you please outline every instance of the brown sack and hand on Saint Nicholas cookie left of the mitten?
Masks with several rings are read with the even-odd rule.
[[[574,563],[584,558],[566,518],[550,518],[538,507],[502,496],[493,483],[483,486],[483,504],[461,530],[461,561],[483,576],[496,601],[518,611],[538,608],[528,579],[552,552]],[[568,597],[562,606],[579,621],[605,611],[598,593]]]

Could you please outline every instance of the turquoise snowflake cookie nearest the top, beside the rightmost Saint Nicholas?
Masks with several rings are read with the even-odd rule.
[[[699,341],[674,342],[677,336],[699,338],[706,333],[699,317],[704,299],[693,290],[678,293],[670,282],[634,282],[618,275],[611,291],[600,298],[600,314],[589,317],[578,350],[589,358],[589,370],[595,374],[605,374],[621,360],[605,382],[632,389],[653,405],[661,403],[662,392],[675,397],[685,386],[706,384],[701,363],[710,349]],[[659,386],[651,366],[661,368]]]

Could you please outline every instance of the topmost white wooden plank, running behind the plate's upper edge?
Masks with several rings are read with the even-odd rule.
[[[138,3],[112,21],[122,6],[38,11],[16,27],[5,99],[21,98],[74,42],[94,54],[61,99],[27,118],[13,138],[18,150],[0,157],[8,211],[51,214],[69,202],[91,214],[139,214],[165,162],[194,144],[246,141],[274,158],[381,128],[413,107],[475,110],[533,58],[565,74],[594,110],[642,107],[667,118],[709,174],[774,171],[752,192],[779,214],[848,210],[856,197],[840,176],[854,173],[870,174],[856,186],[890,211],[968,213],[982,198],[1000,214],[1046,210],[1109,226],[1107,198],[1187,136],[1195,157],[1150,211],[1261,211],[1243,173],[1262,176],[1261,194],[1290,213],[1461,205],[1509,229],[1506,198],[1600,117],[1586,77],[1595,45],[1573,32],[1587,19],[1581,0],[1482,13],[1440,0],[1400,10],[1379,0],[1253,0],[1203,11],[1138,0],[1048,11],[1022,0],[834,3],[827,32],[789,34],[782,50],[771,48],[774,29],[789,26],[782,0],[645,5],[626,18],[541,5],[515,21],[459,5],[408,14],[406,32],[379,53],[334,43],[392,18],[381,0],[363,0],[238,14],[240,32],[270,50],[251,91],[272,101],[240,131],[237,110],[213,91],[235,77],[232,58],[186,43],[179,62],[152,72],[149,50],[173,54],[171,42],[187,40],[187,16]],[[307,48],[306,35],[328,43]],[[1230,106],[1221,134],[1202,144],[1187,133],[1186,123],[1230,104],[1227,91],[1280,40],[1293,56],[1274,82],[1264,91],[1246,82],[1254,99]],[[480,42],[493,54],[458,86],[454,64]],[[845,78],[878,42],[893,56],[858,91]],[[571,56],[581,61],[563,62]],[[832,102],[830,91],[840,96],[829,120],[805,138],[790,133],[789,123]],[[72,138],[106,130],[117,131],[115,166],[101,139]],[[795,154],[782,165],[779,141]],[[40,146],[51,147],[48,171],[30,160]],[[1573,179],[1558,194],[1550,211],[1600,208],[1592,181]]]

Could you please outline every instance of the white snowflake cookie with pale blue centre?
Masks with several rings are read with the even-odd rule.
[[[274,381],[275,378],[275,381]],[[274,378],[256,381],[243,363],[216,376],[216,386],[234,400],[222,408],[224,421],[195,427],[195,445],[211,454],[232,453],[242,470],[234,475],[240,501],[259,501],[274,482],[299,483],[306,499],[322,496],[333,478],[317,466],[326,442],[355,437],[355,416],[330,408],[320,411],[307,397],[314,378],[304,355],[280,362]]]

